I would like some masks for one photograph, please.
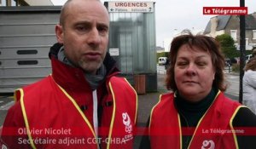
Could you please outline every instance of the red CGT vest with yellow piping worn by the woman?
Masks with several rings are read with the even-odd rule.
[[[191,130],[181,127],[180,116],[174,106],[174,94],[161,95],[151,111],[148,132],[151,148],[183,148],[183,135],[192,135],[188,147],[191,149],[238,148],[232,121],[240,107],[238,102],[225,98],[219,92],[196,128]]]

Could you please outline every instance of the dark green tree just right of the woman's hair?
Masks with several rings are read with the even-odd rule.
[[[239,57],[240,53],[236,50],[235,41],[230,35],[218,35],[216,40],[220,43],[221,50],[226,58]]]

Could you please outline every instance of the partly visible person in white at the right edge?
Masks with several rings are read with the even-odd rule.
[[[247,62],[244,71],[242,78],[243,104],[256,113],[256,57]]]

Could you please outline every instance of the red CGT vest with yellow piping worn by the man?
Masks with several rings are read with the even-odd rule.
[[[132,148],[137,94],[121,77],[111,77],[107,88],[113,111],[108,128],[99,128],[103,137],[96,138],[94,127],[76,101],[51,76],[15,92],[26,123],[20,135],[28,136],[32,148],[96,149],[98,142],[102,148]]]

